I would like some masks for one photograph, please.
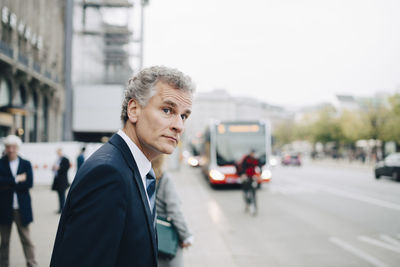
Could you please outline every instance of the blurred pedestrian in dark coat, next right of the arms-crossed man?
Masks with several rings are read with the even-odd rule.
[[[57,191],[59,209],[57,213],[61,213],[65,203],[65,191],[69,187],[68,170],[70,168],[69,160],[63,155],[62,149],[57,149],[57,161],[53,166],[54,180],[51,189]]]

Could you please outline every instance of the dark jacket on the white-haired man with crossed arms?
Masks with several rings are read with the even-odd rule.
[[[23,225],[33,221],[31,196],[29,188],[33,185],[31,163],[19,157],[17,174],[26,173],[25,182],[16,183],[11,173],[8,157],[0,159],[0,224],[11,224],[13,221],[13,199],[17,192],[19,213]]]

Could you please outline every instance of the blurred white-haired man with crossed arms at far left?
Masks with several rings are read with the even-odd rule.
[[[15,135],[4,139],[5,155],[0,159],[0,266],[9,266],[10,236],[15,222],[28,267],[37,266],[35,248],[30,238],[33,221],[30,188],[32,166],[18,155],[22,141]]]

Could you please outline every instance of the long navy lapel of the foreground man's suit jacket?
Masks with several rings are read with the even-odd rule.
[[[121,136],[118,134],[114,134],[109,141],[112,145],[116,146],[119,150],[121,150],[123,157],[125,158],[125,161],[127,162],[129,168],[133,172],[133,179],[136,183],[136,186],[139,188],[140,191],[140,197],[142,199],[142,204],[144,206],[144,210],[146,212],[146,220],[147,220],[147,226],[149,228],[149,231],[151,233],[151,238],[152,238],[152,243],[153,243],[153,253],[154,257],[157,258],[157,241],[156,241],[156,232],[154,229],[153,225],[153,215],[151,214],[151,209],[149,206],[149,202],[147,200],[147,193],[146,190],[144,189],[142,178],[139,173],[139,168],[136,165],[136,161],[133,158],[133,155],[128,147],[128,145],[125,143],[125,141],[122,139]]]

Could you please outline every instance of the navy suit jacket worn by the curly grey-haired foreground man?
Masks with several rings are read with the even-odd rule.
[[[156,245],[139,170],[128,145],[115,134],[76,174],[50,266],[153,267]]]

